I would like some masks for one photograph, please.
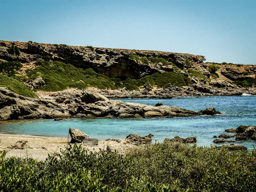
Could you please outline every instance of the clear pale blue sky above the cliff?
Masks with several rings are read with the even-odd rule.
[[[256,0],[0,0],[0,40],[256,64]]]

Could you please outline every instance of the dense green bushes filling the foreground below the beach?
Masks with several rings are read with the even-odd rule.
[[[255,191],[256,152],[163,142],[87,152],[69,145],[45,161],[0,155],[2,191]]]

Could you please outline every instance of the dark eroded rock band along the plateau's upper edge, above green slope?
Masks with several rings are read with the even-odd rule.
[[[20,49],[20,56],[10,55],[7,49],[14,44]],[[92,68],[96,73],[104,74],[111,78],[140,79],[141,77],[164,71],[174,71],[173,66],[163,64],[143,64],[131,59],[130,55],[140,57],[158,57],[172,62],[180,69],[191,67],[186,64],[188,59],[191,65],[203,64],[205,61],[202,55],[191,55],[172,52],[143,51],[129,49],[75,47],[56,44],[38,44],[32,41],[9,42],[0,41],[0,59],[4,61],[20,61],[23,64],[31,64],[37,60],[42,60],[42,56],[49,56],[52,61],[61,61],[73,64],[84,69]],[[33,65],[31,65],[33,67]],[[201,67],[200,67],[201,68]],[[209,73],[200,69],[203,73]]]

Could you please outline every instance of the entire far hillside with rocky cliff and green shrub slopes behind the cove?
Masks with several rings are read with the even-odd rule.
[[[202,55],[0,41],[2,68],[13,61],[21,67],[11,75],[2,69],[0,79],[34,91],[97,87],[109,97],[165,98],[256,94],[256,66],[204,63]]]

